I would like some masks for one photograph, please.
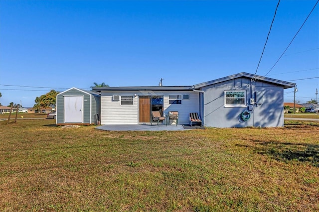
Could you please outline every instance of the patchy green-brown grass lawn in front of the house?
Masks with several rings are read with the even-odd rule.
[[[111,132],[0,122],[1,211],[319,211],[319,126]]]

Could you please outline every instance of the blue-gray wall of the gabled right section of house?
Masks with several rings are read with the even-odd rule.
[[[253,82],[250,79],[238,78],[216,83],[202,88],[205,91],[205,125],[211,127],[277,127],[284,125],[284,89],[282,86],[266,82]],[[225,90],[245,90],[245,107],[225,107]],[[251,96],[257,99],[263,96],[263,104],[255,105],[251,117],[247,121],[241,121],[241,113],[248,109]]]

